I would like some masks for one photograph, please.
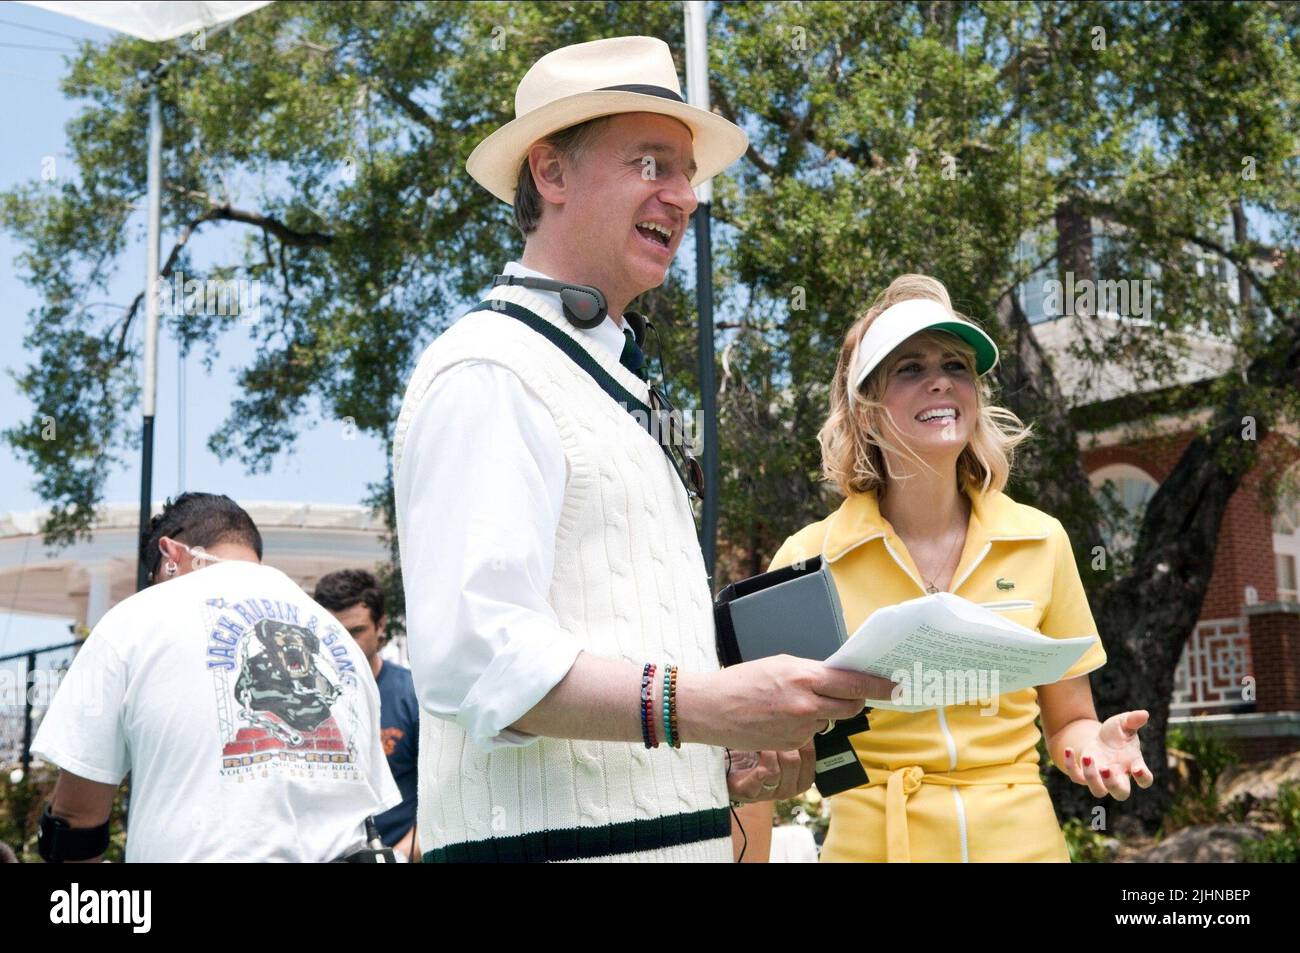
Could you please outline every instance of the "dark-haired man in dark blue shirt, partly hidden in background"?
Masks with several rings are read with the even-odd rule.
[[[415,833],[420,702],[415,696],[411,670],[386,662],[381,654],[389,644],[384,589],[365,569],[339,569],[321,576],[312,598],[334,614],[370,663],[374,683],[380,686],[380,738],[393,780],[402,792],[402,803],[377,816],[374,826],[385,846],[415,859],[420,850]]]

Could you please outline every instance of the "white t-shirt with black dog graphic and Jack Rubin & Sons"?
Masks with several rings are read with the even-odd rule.
[[[280,569],[224,562],[91,632],[32,751],[131,772],[127,861],[330,861],[402,801],[361,650]]]

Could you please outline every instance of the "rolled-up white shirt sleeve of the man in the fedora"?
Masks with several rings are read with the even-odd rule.
[[[395,477],[411,672],[420,705],[480,748],[568,673],[577,640],[547,602],[566,462],[545,404],[491,363],[438,376]]]

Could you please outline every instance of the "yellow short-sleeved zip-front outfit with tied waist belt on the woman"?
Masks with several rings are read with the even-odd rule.
[[[967,490],[966,545],[949,592],[1045,636],[1097,634],[1074,553],[1058,520],[1002,493]],[[926,594],[911,556],[880,515],[875,493],[853,494],[792,536],[781,568],[823,555],[852,634],[875,610]],[[1066,672],[1100,668],[1100,641]],[[1037,692],[930,711],[872,710],[853,736],[868,784],[829,798],[822,859],[1069,862],[1039,777]]]

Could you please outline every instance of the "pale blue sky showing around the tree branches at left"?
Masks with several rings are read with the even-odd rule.
[[[66,61],[62,55],[49,49],[74,49],[77,43],[70,39],[73,36],[107,43],[112,34],[23,4],[0,3],[0,116],[4,117],[0,190],[8,191],[20,183],[39,181],[44,156],[56,157],[58,176],[77,176],[64,127],[77,114],[81,104],[65,99],[60,91],[58,82],[68,72]],[[246,203],[254,198],[254,190],[248,189]],[[140,205],[140,215],[131,222],[133,234],[136,230],[143,234],[143,200]],[[237,260],[235,250],[244,230],[244,226],[222,224],[200,233],[191,242],[194,264],[207,267]],[[173,241],[174,235],[164,231],[164,255]],[[12,235],[0,231],[0,300],[8,306],[0,316],[4,341],[0,350],[0,371],[4,372],[0,374],[0,428],[30,420],[35,410],[18,393],[9,373],[21,371],[31,360],[31,354],[22,348],[21,341],[27,315],[39,304],[38,295],[16,272],[14,257],[20,251],[21,247]],[[140,239],[118,261],[118,272],[109,285],[107,300],[129,304],[143,283],[144,242]],[[96,300],[100,298],[96,295]],[[140,322],[135,324],[135,339],[139,341],[143,332],[139,329]],[[318,413],[302,419],[302,436],[294,452],[277,459],[270,473],[247,475],[238,462],[222,463],[208,451],[207,438],[224,421],[226,408],[237,394],[235,373],[248,363],[254,351],[251,342],[239,332],[228,334],[220,347],[221,359],[211,374],[204,373],[198,355],[188,356],[185,361],[185,386],[181,387],[176,341],[164,335],[160,342],[153,498],[174,495],[181,489],[202,489],[228,493],[244,501],[361,502],[367,484],[384,475],[382,446],[364,434],[356,434],[355,439],[344,442],[343,423],[324,419]],[[133,411],[134,420],[139,420],[139,408]],[[135,425],[139,426],[138,423]],[[0,512],[39,507],[40,499],[32,488],[34,478],[30,467],[12,452],[0,450]],[[138,501],[139,480],[139,456],[133,455],[113,471],[105,499]],[[40,558],[39,554],[35,558]],[[31,645],[65,641],[68,637],[66,620],[38,620],[32,616],[10,615],[6,610],[6,606],[0,606],[0,655]]]

